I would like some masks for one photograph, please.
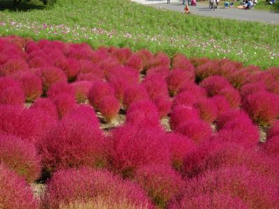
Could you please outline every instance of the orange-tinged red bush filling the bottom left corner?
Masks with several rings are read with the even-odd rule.
[[[14,171],[0,164],[0,206],[1,208],[38,208],[31,187]]]

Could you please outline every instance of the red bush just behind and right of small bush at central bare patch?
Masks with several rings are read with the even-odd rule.
[[[149,94],[142,85],[130,86],[123,95],[123,104],[125,107],[129,107],[133,102],[141,100],[149,100]]]

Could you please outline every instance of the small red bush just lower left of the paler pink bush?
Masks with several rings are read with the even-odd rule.
[[[54,99],[54,104],[58,112],[59,118],[63,118],[72,111],[77,105],[75,98],[66,93],[59,93]]]

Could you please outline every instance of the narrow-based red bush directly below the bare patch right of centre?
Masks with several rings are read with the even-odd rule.
[[[187,153],[190,153],[195,148],[195,144],[191,139],[179,133],[167,133],[164,135],[164,140],[169,145],[170,160],[172,167],[176,170],[181,170],[183,166],[183,158]]]

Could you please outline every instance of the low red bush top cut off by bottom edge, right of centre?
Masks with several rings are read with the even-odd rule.
[[[200,194],[190,199],[188,196],[184,195],[179,203],[172,203],[169,208],[248,209],[248,206],[246,206],[246,203],[244,203],[239,197],[213,192],[212,194]]]

